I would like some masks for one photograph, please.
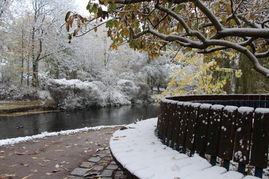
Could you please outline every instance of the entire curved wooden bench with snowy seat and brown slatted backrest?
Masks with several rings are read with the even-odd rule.
[[[129,178],[239,179],[244,177],[249,161],[255,166],[255,176],[262,178],[269,143],[269,109],[262,108],[269,106],[266,97],[162,98],[158,119],[130,124],[113,134],[111,154]],[[194,157],[185,154],[187,149],[189,156]],[[211,156],[210,164],[203,159],[205,154]],[[217,157],[224,160],[223,167],[215,166]],[[238,172],[228,171],[230,160],[239,163]]]

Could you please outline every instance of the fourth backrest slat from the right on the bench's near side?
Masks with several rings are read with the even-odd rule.
[[[223,108],[223,105],[218,104],[215,104],[210,108],[206,153],[211,156],[217,156],[219,152]]]

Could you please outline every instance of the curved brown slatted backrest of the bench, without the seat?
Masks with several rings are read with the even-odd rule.
[[[255,166],[261,177],[267,168],[269,144],[269,95],[185,95],[161,99],[157,129],[192,151]],[[250,155],[251,151],[251,155]],[[251,156],[251,158],[250,158]]]

